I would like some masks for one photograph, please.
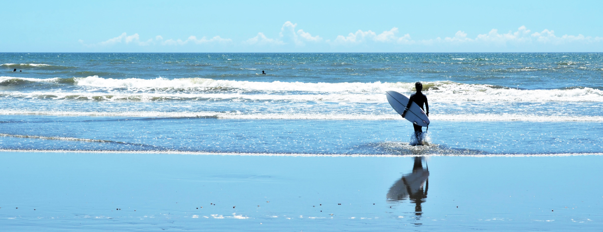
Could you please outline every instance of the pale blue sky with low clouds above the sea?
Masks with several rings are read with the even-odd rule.
[[[603,1],[0,4],[0,52],[603,52]]]

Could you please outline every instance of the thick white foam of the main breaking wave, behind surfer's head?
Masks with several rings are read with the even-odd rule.
[[[169,80],[156,78],[144,80],[138,78],[112,79],[86,77],[76,78],[78,85],[94,87],[128,87],[128,88],[194,88],[194,87],[229,87],[243,90],[268,91],[305,91],[305,92],[349,92],[357,94],[383,95],[387,90],[409,93],[413,83],[302,83],[302,82],[259,82],[259,81],[230,81],[207,78],[180,78]],[[425,82],[430,89],[425,91],[431,101],[572,101],[572,102],[603,102],[603,91],[592,88],[552,89],[552,90],[519,90],[503,88],[488,84],[462,84],[452,81]],[[350,97],[350,96],[346,96]],[[320,96],[318,97],[320,98]],[[367,98],[363,96],[362,98]],[[327,98],[329,99],[329,98]],[[370,96],[370,101],[381,99],[382,96]],[[346,100],[346,99],[341,99]],[[353,99],[347,99],[353,101]]]

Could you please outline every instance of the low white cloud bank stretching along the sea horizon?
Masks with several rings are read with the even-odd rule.
[[[235,41],[221,36],[200,39],[189,36],[187,39],[164,39],[154,36],[140,39],[139,34],[122,33],[117,37],[98,43],[85,43],[78,40],[84,48],[93,50],[112,50],[116,46],[128,46],[136,50],[144,48],[153,51],[240,51],[240,52],[473,52],[473,51],[576,51],[584,48],[603,51],[603,37],[568,35],[557,36],[555,31],[544,29],[531,31],[525,26],[517,31],[499,33],[492,29],[488,33],[468,37],[465,31],[457,31],[453,36],[436,37],[434,39],[413,39],[409,33],[402,34],[400,29],[376,33],[358,30],[347,35],[339,35],[325,39],[297,28],[297,24],[285,22],[276,37],[268,37],[263,32],[257,33],[247,40]]]

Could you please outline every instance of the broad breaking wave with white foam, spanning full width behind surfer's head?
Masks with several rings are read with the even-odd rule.
[[[25,80],[19,83],[17,80]],[[414,83],[303,83],[215,80],[209,78],[127,78],[113,79],[93,77],[75,78],[16,78],[0,77],[0,83],[14,85],[32,82],[52,82],[79,86],[83,93],[74,92],[20,92],[13,95],[81,95],[94,99],[95,96],[110,99],[275,99],[291,101],[379,101],[387,102],[385,91],[414,92]],[[4,84],[5,86],[8,84]],[[423,84],[430,101],[482,101],[482,102],[603,102],[603,91],[592,87],[566,87],[563,89],[514,89],[490,84],[464,84],[453,81],[432,81]],[[56,89],[56,86],[52,86]],[[92,96],[91,92],[96,95]],[[172,93],[179,92],[182,95]],[[209,92],[215,93],[209,95]],[[233,94],[235,93],[235,94]],[[257,94],[260,93],[260,94]],[[188,95],[186,95],[188,94]],[[256,96],[254,96],[256,95]],[[104,96],[112,96],[110,98]],[[117,98],[113,96],[119,96]]]

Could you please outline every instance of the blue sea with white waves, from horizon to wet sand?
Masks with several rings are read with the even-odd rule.
[[[603,53],[0,53],[0,71],[4,150],[603,152]],[[385,96],[415,81],[426,146]]]

